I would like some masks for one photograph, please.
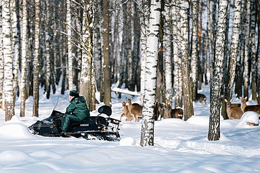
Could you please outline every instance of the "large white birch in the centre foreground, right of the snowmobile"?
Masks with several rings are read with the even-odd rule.
[[[156,76],[158,58],[158,31],[160,22],[160,0],[151,1],[149,33],[147,39],[147,61],[145,97],[142,110],[141,146],[154,145],[154,108],[156,102]]]

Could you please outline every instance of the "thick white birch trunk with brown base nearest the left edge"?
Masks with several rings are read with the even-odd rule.
[[[2,33],[3,33],[3,57],[4,57],[4,108],[5,121],[14,116],[13,102],[13,67],[12,67],[12,43],[9,0],[2,0]]]

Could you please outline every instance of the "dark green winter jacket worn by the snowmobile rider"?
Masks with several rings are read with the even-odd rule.
[[[82,120],[90,117],[89,109],[83,96],[74,97],[69,103],[69,106],[66,108],[67,113],[72,113]]]

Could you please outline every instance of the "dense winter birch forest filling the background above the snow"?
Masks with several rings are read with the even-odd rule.
[[[20,98],[61,84],[90,111],[111,86],[141,93],[141,145],[153,145],[155,103],[184,109],[210,86],[208,140],[219,139],[232,94],[260,104],[259,0],[0,0],[0,99],[5,121]],[[209,78],[207,78],[207,74]],[[99,97],[96,93],[99,93]],[[120,93],[119,93],[120,96]],[[221,99],[221,98],[224,99]]]

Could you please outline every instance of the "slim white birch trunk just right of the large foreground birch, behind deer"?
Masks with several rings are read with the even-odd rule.
[[[169,4],[169,1],[166,1]],[[171,6],[164,5],[165,22],[163,31],[163,61],[165,75],[165,103],[172,104],[172,87],[171,87]]]

